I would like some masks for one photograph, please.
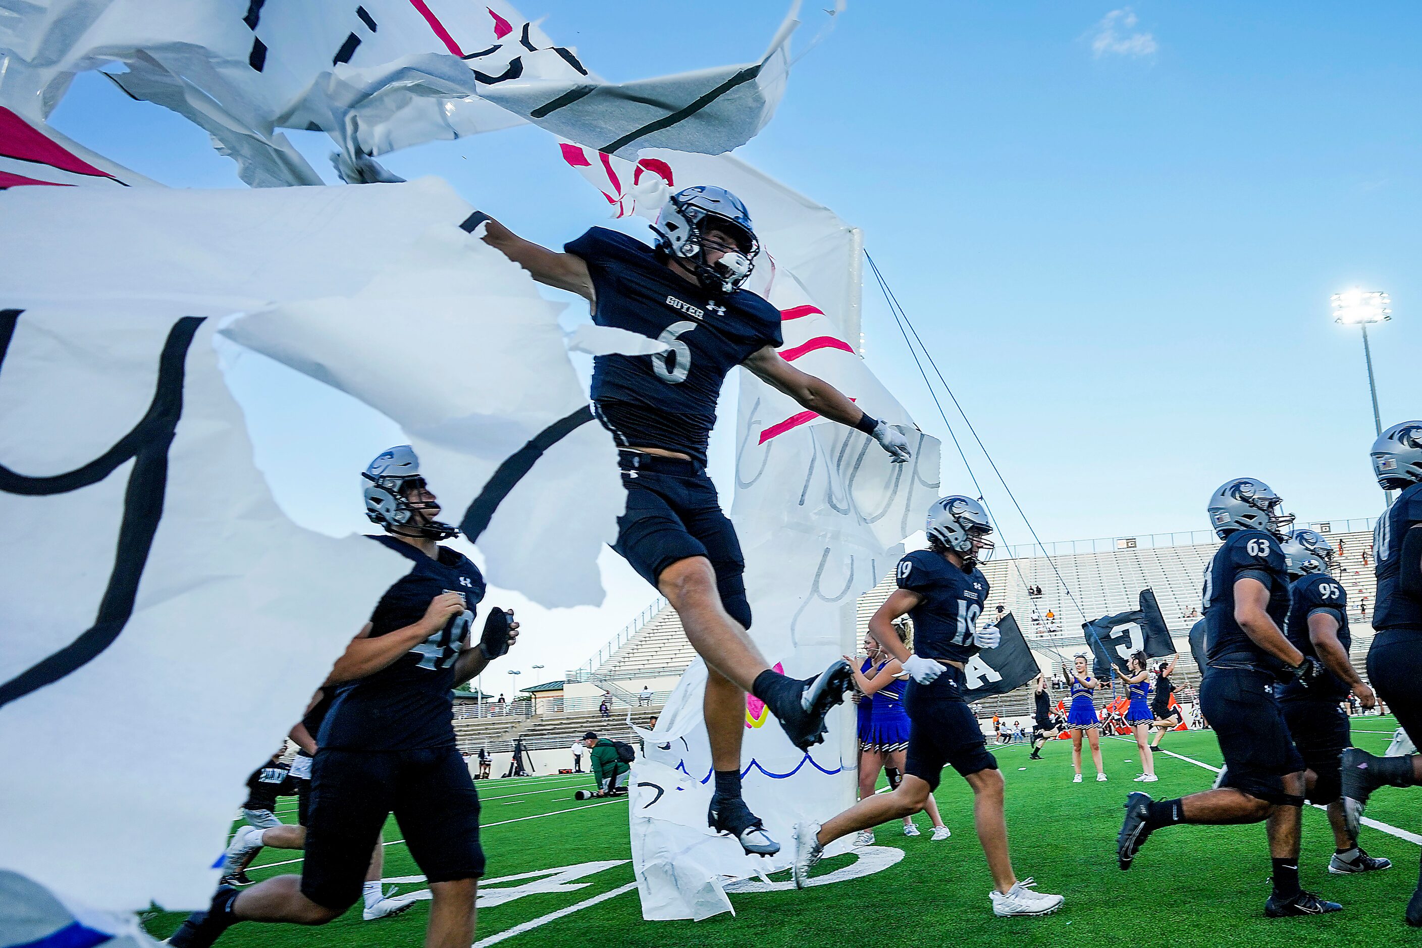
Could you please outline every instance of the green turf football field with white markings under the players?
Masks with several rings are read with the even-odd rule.
[[[1354,718],[1357,746],[1381,753],[1392,718]],[[1219,766],[1212,732],[1169,733],[1162,749]],[[897,826],[877,830],[877,846],[904,857],[893,866],[843,883],[805,891],[731,895],[737,915],[704,922],[643,922],[627,844],[627,803],[577,803],[573,790],[590,786],[586,776],[526,777],[479,782],[483,797],[483,847],[489,858],[481,903],[498,888],[519,888],[515,897],[481,905],[478,944],[508,942],[509,948],[569,944],[624,947],[897,944],[988,945],[1011,938],[1022,945],[1118,944],[1214,948],[1256,945],[1392,945],[1419,944],[1422,932],[1402,922],[1402,911],[1416,884],[1416,843],[1364,829],[1362,846],[1386,856],[1395,867],[1361,877],[1330,876],[1332,837],[1321,810],[1304,812],[1301,874],[1305,888],[1344,904],[1344,911],[1318,918],[1263,917],[1270,873],[1264,827],[1173,827],[1150,837],[1129,873],[1116,868],[1115,837],[1121,804],[1139,773],[1133,742],[1103,740],[1108,783],[1071,783],[1071,743],[1052,740],[1044,760],[1028,760],[1025,745],[995,749],[1007,777],[1008,830],[1020,877],[1032,876],[1039,888],[1064,893],[1062,911],[1048,918],[995,918],[987,900],[991,887],[981,850],[973,834],[971,795],[947,772],[939,806],[953,839],[929,840],[927,831],[906,839]],[[1020,767],[1027,767],[1020,770]],[[1152,796],[1172,797],[1209,787],[1214,775],[1194,763],[1158,755],[1160,782],[1145,785]],[[294,800],[283,800],[294,820]],[[1415,790],[1381,790],[1368,817],[1409,833],[1422,833]],[[926,817],[919,817],[927,826]],[[394,822],[385,840],[400,839]],[[262,880],[299,871],[299,851],[263,850],[249,874]],[[816,876],[855,861],[842,856],[820,863]],[[280,863],[287,863],[280,866]],[[603,863],[604,866],[583,866]],[[577,867],[566,881],[549,873]],[[269,867],[269,868],[263,868]],[[584,874],[586,873],[586,874]],[[418,891],[418,870],[400,843],[385,847],[385,878],[414,876],[402,891]],[[499,878],[508,878],[501,883]],[[775,881],[788,877],[774,877]],[[535,891],[542,888],[543,891]],[[600,898],[600,901],[599,901]],[[323,928],[243,924],[220,945],[230,948],[323,948],[327,945],[392,945],[417,948],[425,927],[427,904],[395,918],[364,922],[357,905]],[[148,924],[159,938],[179,921],[156,915]],[[522,927],[520,931],[512,930]]]

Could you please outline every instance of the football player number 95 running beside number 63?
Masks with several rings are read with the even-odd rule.
[[[1288,722],[1288,733],[1304,758],[1305,796],[1310,803],[1328,809],[1335,851],[1328,871],[1337,876],[1391,868],[1392,861],[1368,856],[1351,836],[1344,822],[1342,770],[1344,749],[1352,743],[1348,715],[1340,702],[1348,694],[1358,695],[1364,708],[1374,708],[1378,698],[1358,678],[1348,650],[1348,593],[1342,583],[1330,576],[1332,547],[1314,530],[1294,530],[1284,540],[1284,561],[1288,566],[1288,625],[1284,634],[1294,648],[1313,655],[1327,669],[1310,686],[1287,682],[1280,688],[1278,704]]]

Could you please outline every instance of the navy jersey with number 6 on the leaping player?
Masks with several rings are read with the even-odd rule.
[[[710,293],[667,269],[651,247],[593,227],[563,247],[593,280],[593,321],[671,345],[653,355],[593,360],[597,418],[621,445],[678,451],[705,465],[727,372],[779,347],[781,313],[749,290]]]

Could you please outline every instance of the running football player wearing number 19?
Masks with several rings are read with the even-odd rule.
[[[899,588],[869,620],[869,634],[903,664],[912,681],[904,688],[909,753],[903,780],[892,793],[865,797],[823,826],[795,827],[793,877],[803,888],[825,846],[842,836],[917,813],[939,787],[944,765],[953,765],[973,787],[973,820],[993,873],[988,894],[995,915],[1048,915],[1065,901],[1020,883],[1007,849],[1003,775],[983,738],[977,716],[963,699],[963,668],[981,648],[997,648],[997,625],[977,627],[987,601],[987,578],[977,569],[993,543],[987,512],[964,496],[941,497],[929,507],[927,550],[899,560]],[[913,617],[913,654],[893,630],[900,615]]]

